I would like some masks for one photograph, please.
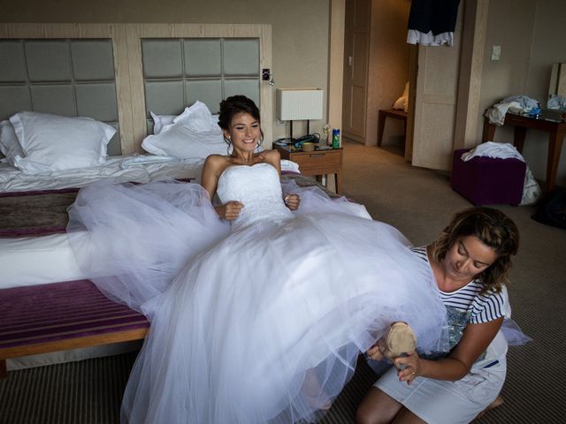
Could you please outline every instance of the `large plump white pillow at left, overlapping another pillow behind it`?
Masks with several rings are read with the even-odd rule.
[[[10,117],[25,157],[14,166],[26,173],[87,168],[106,162],[106,147],[116,129],[89,117],[19,112]]]

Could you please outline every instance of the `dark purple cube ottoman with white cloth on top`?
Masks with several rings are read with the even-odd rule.
[[[468,148],[455,150],[452,188],[474,205],[513,205],[521,203],[526,163],[518,159],[476,156],[461,159]]]

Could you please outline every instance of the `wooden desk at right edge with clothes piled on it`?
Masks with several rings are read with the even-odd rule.
[[[560,161],[560,153],[562,151],[562,140],[566,134],[566,122],[548,121],[546,119],[537,119],[535,117],[525,117],[508,113],[505,115],[503,125],[515,126],[515,147],[519,153],[523,153],[524,138],[528,128],[539,131],[545,131],[548,135],[548,155],[547,155],[547,191],[555,186],[556,170],[558,170],[558,162]],[[490,124],[487,118],[484,119],[484,133],[482,142],[493,141],[496,125]]]

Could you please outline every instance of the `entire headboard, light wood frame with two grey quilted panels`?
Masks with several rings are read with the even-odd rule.
[[[173,115],[200,100],[214,113],[244,94],[271,146],[273,90],[260,78],[272,68],[270,25],[0,22],[0,43],[0,118],[93,117],[119,129],[109,153],[127,155],[142,152],[149,110]]]

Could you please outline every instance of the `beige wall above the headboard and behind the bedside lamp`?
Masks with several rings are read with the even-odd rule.
[[[21,0],[3,5],[0,20],[271,24],[274,89],[319,87],[326,94],[329,12],[329,0]],[[311,131],[320,131],[326,114],[325,107],[325,118],[313,121]],[[274,116],[272,120],[275,139],[288,133],[288,125],[277,125]],[[294,125],[295,131],[301,126]]]

